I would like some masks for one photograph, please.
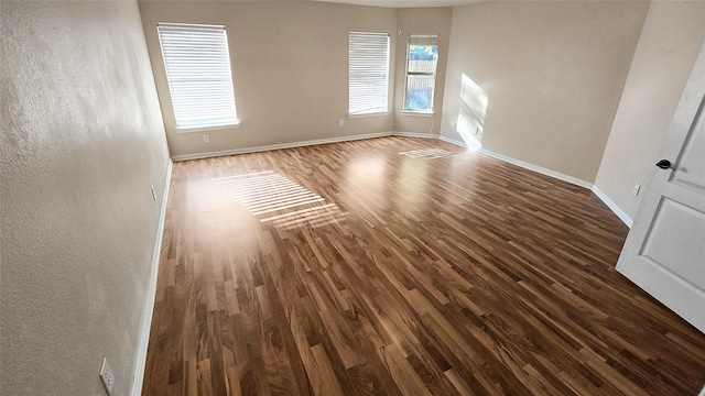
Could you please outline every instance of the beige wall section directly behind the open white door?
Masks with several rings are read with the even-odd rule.
[[[705,2],[651,3],[595,182],[631,219],[703,40]],[[634,197],[636,183],[642,189]]]

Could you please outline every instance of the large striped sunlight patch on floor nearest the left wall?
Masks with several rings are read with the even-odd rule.
[[[347,213],[335,204],[272,170],[215,178],[223,189],[262,223],[285,230],[318,228],[341,221]]]

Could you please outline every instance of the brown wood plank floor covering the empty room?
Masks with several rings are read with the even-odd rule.
[[[174,165],[143,395],[696,395],[589,190],[438,141]]]

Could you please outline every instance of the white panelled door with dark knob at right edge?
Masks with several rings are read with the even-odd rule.
[[[705,45],[617,271],[705,332]],[[662,166],[665,166],[661,162]]]

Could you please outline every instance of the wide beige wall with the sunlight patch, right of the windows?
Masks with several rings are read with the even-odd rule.
[[[491,1],[454,8],[441,134],[463,139],[451,123],[463,111],[465,75],[487,94],[482,148],[593,183],[648,7]]]

